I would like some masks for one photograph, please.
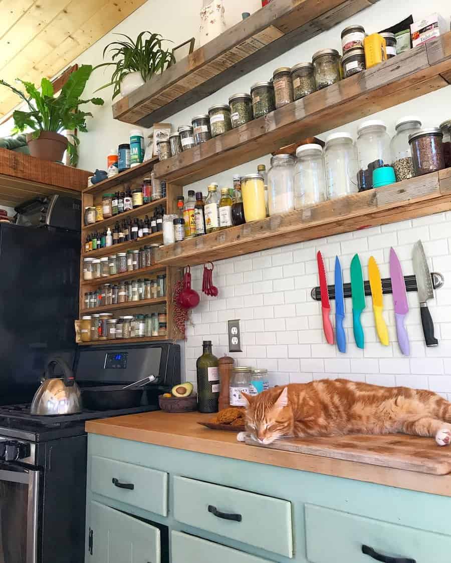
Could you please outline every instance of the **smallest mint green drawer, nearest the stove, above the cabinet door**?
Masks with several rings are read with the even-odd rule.
[[[168,474],[163,471],[93,455],[91,490],[155,514],[168,514]]]

